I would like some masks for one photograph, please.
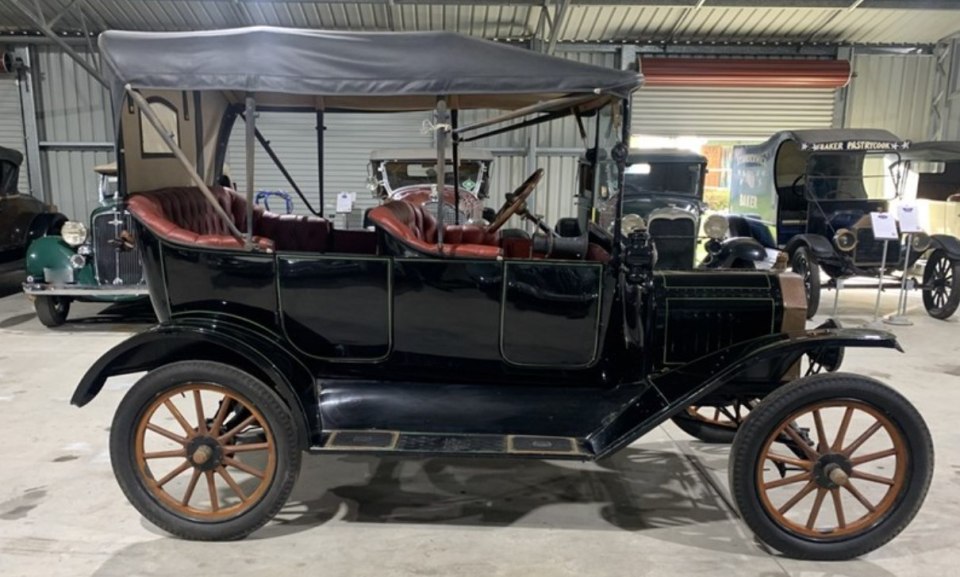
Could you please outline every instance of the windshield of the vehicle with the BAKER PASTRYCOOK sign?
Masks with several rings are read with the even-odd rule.
[[[806,190],[817,200],[890,200],[897,195],[898,155],[811,154]]]

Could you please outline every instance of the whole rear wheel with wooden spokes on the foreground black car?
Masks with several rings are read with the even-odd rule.
[[[114,474],[151,523],[178,537],[241,539],[280,510],[296,481],[293,416],[263,382],[188,361],[147,373],[110,430]]]

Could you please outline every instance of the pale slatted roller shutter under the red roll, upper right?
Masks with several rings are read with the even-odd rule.
[[[764,139],[779,130],[833,125],[833,89],[641,88],[631,132],[711,139]]]

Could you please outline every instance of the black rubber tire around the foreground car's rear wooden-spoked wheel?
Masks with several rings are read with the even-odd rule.
[[[265,489],[256,500],[251,498],[249,506],[244,505],[246,509],[227,519],[191,518],[175,510],[152,492],[162,489],[148,487],[145,478],[148,473],[141,471],[137,460],[137,431],[141,421],[150,418],[148,409],[158,399],[165,398],[165,394],[174,394],[171,391],[196,383],[219,387],[219,390],[248,402],[265,420],[264,429],[270,432],[269,438],[273,440],[273,450],[268,449],[268,452],[273,455],[275,466],[272,475],[263,476],[261,483],[267,483],[262,485]],[[226,424],[223,428],[227,428]],[[238,440],[233,443],[240,444]],[[110,455],[120,488],[144,517],[168,533],[198,541],[242,539],[270,521],[293,490],[301,458],[294,417],[277,393],[239,369],[209,361],[172,363],[150,371],[140,379],[117,408],[110,432]],[[199,465],[192,463],[192,457],[186,458],[185,463],[193,465],[196,471],[200,470]],[[149,466],[144,469],[149,470]],[[152,473],[149,474],[152,479]],[[267,479],[268,476],[271,478]],[[213,502],[212,498],[210,500]],[[216,512],[216,509],[212,511]]]

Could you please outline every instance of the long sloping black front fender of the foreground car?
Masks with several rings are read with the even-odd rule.
[[[637,383],[640,393],[591,433],[587,442],[597,458],[610,455],[731,382],[753,364],[779,361],[777,365],[786,370],[806,352],[841,347],[883,347],[903,352],[893,333],[870,329],[823,328],[766,335]]]

